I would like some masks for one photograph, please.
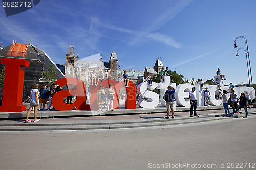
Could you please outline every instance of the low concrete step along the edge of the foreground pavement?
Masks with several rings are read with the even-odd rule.
[[[237,114],[236,117],[243,117],[244,114]],[[255,116],[249,114],[248,116]],[[175,119],[152,118],[150,120],[100,120],[80,123],[58,123],[58,122],[15,122],[0,124],[0,131],[60,131],[60,130],[92,130],[92,129],[120,129],[120,128],[139,128],[139,127],[156,127],[168,125],[181,125],[191,123],[201,123],[218,121],[223,119],[232,119],[236,117],[220,116],[201,116],[201,117],[185,117]]]

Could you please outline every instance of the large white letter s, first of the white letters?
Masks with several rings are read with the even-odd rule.
[[[158,86],[158,84],[153,82],[152,85],[153,86],[150,87],[148,82],[142,82],[138,85],[137,93],[140,96],[148,98],[148,102],[143,100],[143,99],[139,100],[139,102],[137,103],[138,106],[143,107],[143,108],[155,108],[155,107],[157,107],[157,105],[159,104],[158,94],[155,93],[155,92],[152,92],[152,91],[148,91],[147,88],[149,88],[150,90],[154,90]]]

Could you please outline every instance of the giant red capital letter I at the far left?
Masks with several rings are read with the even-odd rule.
[[[1,112],[22,112],[26,105],[22,105],[24,84],[24,70],[29,67],[29,62],[23,59],[1,58],[5,64],[5,81]]]

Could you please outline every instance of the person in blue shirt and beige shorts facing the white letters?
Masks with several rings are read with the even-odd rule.
[[[172,111],[172,117],[174,118],[174,107],[175,107],[175,89],[173,86],[168,86],[165,94],[169,94],[169,101],[166,101],[166,108],[167,108],[167,116],[165,118],[169,119],[170,111]]]

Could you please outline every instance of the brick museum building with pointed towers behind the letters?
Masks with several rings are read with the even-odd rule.
[[[97,55],[94,55],[97,57]],[[109,61],[104,62],[101,56],[98,55],[98,61],[89,61],[84,59],[79,59],[78,54],[75,54],[74,46],[70,45],[68,48],[68,52],[66,54],[65,60],[65,76],[66,77],[75,77],[81,79],[84,84],[86,84],[87,91],[90,91],[91,86],[91,74],[95,70],[98,76],[100,70],[103,73],[107,72],[109,69],[111,70],[111,76],[114,78],[118,77],[118,74],[124,74],[124,70],[127,71],[127,76],[130,81],[132,81],[135,85],[143,82],[144,76],[147,72],[150,72],[151,76],[157,75],[161,68],[163,68],[163,63],[161,59],[157,59],[154,67],[145,67],[145,70],[136,70],[136,69],[120,69],[118,65],[118,58],[115,51],[112,51]]]

